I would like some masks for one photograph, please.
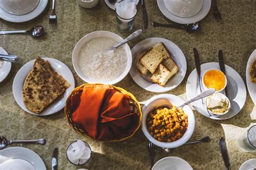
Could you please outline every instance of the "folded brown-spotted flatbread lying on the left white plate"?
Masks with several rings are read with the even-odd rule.
[[[35,62],[23,86],[23,101],[28,110],[40,113],[66,89],[53,78],[52,73]]]

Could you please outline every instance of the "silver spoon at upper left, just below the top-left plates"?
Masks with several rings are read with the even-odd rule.
[[[31,37],[39,37],[43,35],[44,28],[41,25],[34,26],[30,30],[21,30],[21,31],[0,31],[0,35],[10,34],[10,33],[28,33]]]

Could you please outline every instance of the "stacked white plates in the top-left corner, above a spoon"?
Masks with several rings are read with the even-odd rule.
[[[21,23],[30,21],[42,13],[48,0],[0,0],[0,18]]]

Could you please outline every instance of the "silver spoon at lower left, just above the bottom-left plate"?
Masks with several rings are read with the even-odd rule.
[[[46,140],[44,138],[38,140],[8,140],[5,137],[0,137],[0,149],[3,149],[6,145],[9,144],[41,144],[44,145]]]

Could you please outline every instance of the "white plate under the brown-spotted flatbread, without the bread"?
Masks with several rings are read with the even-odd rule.
[[[23,103],[22,99],[22,89],[23,89],[23,84],[26,76],[28,76],[28,73],[33,67],[33,64],[35,63],[35,59],[31,60],[30,62],[26,63],[19,69],[17,72],[15,78],[14,78],[14,83],[12,84],[12,93],[14,93],[14,98],[19,105],[24,111],[34,114],[34,115],[50,115],[53,113],[56,113],[65,106],[65,101],[69,97],[69,94],[71,91],[75,88],[75,80],[73,77],[72,72],[70,71],[69,67],[66,66],[64,63],[60,62],[57,59],[53,58],[43,58],[44,60],[48,60],[52,66],[53,69],[55,69],[60,76],[66,79],[68,83],[70,84],[70,87],[64,92],[64,96],[62,99],[55,101],[54,103],[50,104],[48,107],[45,108],[45,110],[42,111],[42,113],[36,114],[28,110],[26,106]]]

